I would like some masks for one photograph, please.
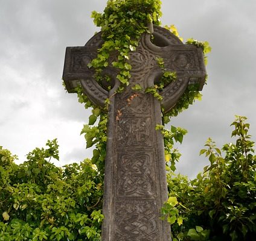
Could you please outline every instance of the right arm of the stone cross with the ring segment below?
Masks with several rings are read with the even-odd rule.
[[[164,37],[174,38],[173,34],[164,34]],[[162,36],[161,36],[162,37]],[[174,38],[174,40],[176,40]],[[176,81],[165,86],[160,92],[162,96],[161,105],[165,112],[170,110],[181,98],[189,84],[197,84],[198,90],[202,90],[206,79],[206,69],[204,64],[203,49],[194,45],[185,45],[181,41],[166,41],[165,44],[155,45],[147,34],[144,39],[146,49],[153,54],[156,59],[164,60],[164,69],[176,72]],[[160,68],[158,67],[158,72]],[[157,78],[159,78],[157,75]]]

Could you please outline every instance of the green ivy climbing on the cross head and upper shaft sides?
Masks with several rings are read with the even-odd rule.
[[[120,87],[117,92],[122,92],[129,86],[129,79],[131,77],[130,70],[132,69],[132,66],[129,64],[129,54],[132,51],[136,51],[141,34],[150,33],[148,28],[149,23],[161,25],[159,20],[161,16],[161,1],[159,0],[109,0],[107,1],[103,13],[98,13],[96,11],[92,12],[91,17],[94,19],[95,25],[101,27],[101,36],[104,43],[101,48],[98,49],[97,57],[88,64],[88,67],[93,67],[95,69],[95,80],[97,80],[99,84],[102,84],[104,81],[104,83],[109,83],[109,86],[107,86],[108,90],[112,88],[110,77],[103,74],[104,69],[112,64],[112,67],[115,67],[118,70],[116,78],[120,81]],[[182,40],[174,25],[170,25],[170,27],[165,26],[165,28]],[[211,50],[208,42],[199,42],[197,40],[189,39],[187,43],[202,48],[204,54]],[[109,57],[113,52],[117,55],[117,60],[110,63]],[[142,87],[139,86],[139,84],[133,86],[132,89],[151,93],[156,99],[161,101],[162,96],[159,94],[159,91],[167,86],[167,84],[171,83],[171,81],[176,80],[176,73],[169,72],[165,69],[164,60],[162,58],[157,58],[156,60],[158,61],[159,67],[162,69],[162,77],[156,81],[154,86],[148,87],[146,90],[142,90]],[[171,116],[177,116],[182,110],[188,108],[190,104],[193,104],[195,99],[201,98],[202,95],[197,89],[197,86],[188,86],[184,95],[182,95],[178,103],[168,111],[168,113],[164,113],[164,110],[162,110],[163,124],[170,122]],[[76,92],[78,94],[79,102],[85,103],[86,108],[92,107],[89,123],[83,127],[81,134],[85,134],[87,142],[86,148],[95,145],[92,162],[97,165],[99,171],[104,172],[103,161],[106,155],[107,140],[106,109],[110,100],[107,99],[106,108],[101,109],[95,107],[89,101],[81,87],[77,87]],[[95,125],[96,122],[98,125]],[[167,136],[168,135],[164,134],[165,140],[168,139]],[[165,142],[165,145],[167,145],[167,142]],[[171,155],[170,146],[167,149],[165,150],[165,152],[167,152],[166,156],[173,157],[174,155]],[[174,159],[175,158],[173,158],[173,161]]]

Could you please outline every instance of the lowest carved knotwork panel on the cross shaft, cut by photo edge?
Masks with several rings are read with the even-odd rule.
[[[118,202],[116,210],[115,240],[159,241],[159,218],[154,201]]]

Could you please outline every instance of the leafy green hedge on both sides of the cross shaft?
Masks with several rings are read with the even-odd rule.
[[[231,125],[234,143],[220,149],[207,140],[200,154],[208,164],[194,180],[174,173],[178,150],[166,155],[169,198],[162,218],[171,225],[173,241],[254,240],[254,142],[246,117],[237,116]],[[182,142],[184,130],[158,128],[166,153]],[[56,167],[56,140],[31,151],[22,164],[15,164],[17,158],[0,146],[0,240],[100,241],[103,174],[97,166],[85,159]]]

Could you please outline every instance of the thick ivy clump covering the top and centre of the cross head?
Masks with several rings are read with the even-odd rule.
[[[109,0],[104,12],[92,12],[95,25],[101,27],[104,43],[98,49],[97,58],[92,60],[89,67],[97,70],[96,79],[106,78],[102,75],[105,67],[111,64],[119,70],[117,80],[121,89],[129,85],[130,66],[129,52],[135,51],[142,33],[146,33],[149,22],[160,24],[161,1],[153,0]],[[108,62],[111,52],[117,52],[117,61]]]

